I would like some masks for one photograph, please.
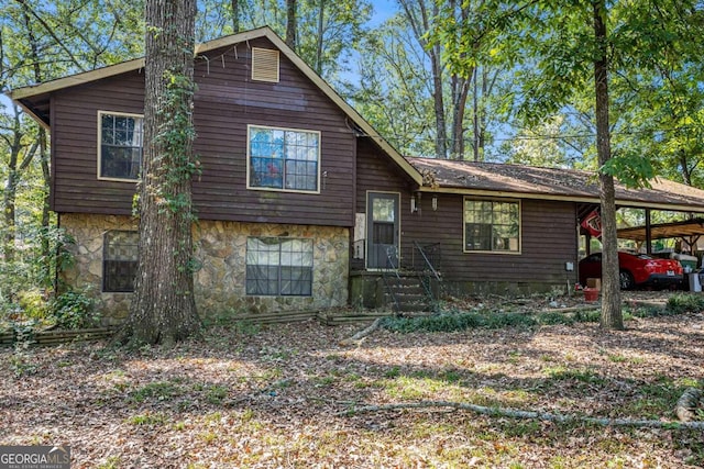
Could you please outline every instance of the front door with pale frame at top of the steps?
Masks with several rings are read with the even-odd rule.
[[[400,194],[367,192],[367,269],[398,268],[398,219]]]

